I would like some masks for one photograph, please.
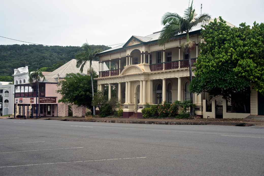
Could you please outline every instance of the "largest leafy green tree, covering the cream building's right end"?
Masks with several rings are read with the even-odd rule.
[[[251,84],[264,93],[264,24],[230,27],[219,17],[201,31],[204,43],[196,62],[192,92],[230,98],[248,94]],[[243,95],[241,95],[243,96]]]

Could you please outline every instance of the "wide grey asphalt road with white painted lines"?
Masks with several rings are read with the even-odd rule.
[[[264,175],[264,128],[0,119],[0,175]]]

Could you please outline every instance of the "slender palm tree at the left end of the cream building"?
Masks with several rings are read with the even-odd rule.
[[[80,72],[83,72],[83,67],[86,64],[86,62],[90,63],[90,67],[87,70],[87,75],[91,76],[92,81],[92,96],[94,96],[93,91],[93,68],[92,68],[92,60],[95,58],[96,54],[100,52],[100,50],[95,50],[92,52],[90,45],[86,42],[82,44],[82,48],[84,52],[76,54],[75,58],[77,59],[76,67],[80,68]],[[95,106],[93,106],[93,115],[95,115]]]

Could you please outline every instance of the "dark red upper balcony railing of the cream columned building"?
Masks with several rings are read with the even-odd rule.
[[[191,58],[191,64],[192,67],[195,66],[194,63],[196,63],[197,58]],[[188,68],[189,67],[189,60],[177,60],[177,61],[171,61],[171,62],[162,62],[162,63],[155,63],[150,64],[149,68],[150,71],[161,71],[163,70],[172,70],[172,69],[179,69],[179,68]],[[123,71],[123,68],[115,69],[115,70],[106,70],[106,71],[100,71],[99,75],[101,77],[108,77],[108,76],[118,76]],[[111,72],[111,74],[110,74]]]

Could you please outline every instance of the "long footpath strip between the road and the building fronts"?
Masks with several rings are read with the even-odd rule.
[[[12,118],[12,117],[11,117]],[[32,119],[32,118],[21,118]],[[224,126],[260,126],[264,127],[264,120],[254,119],[137,119],[137,118],[92,118],[84,117],[41,117],[34,119],[59,120],[72,122],[105,122],[105,123],[134,123],[134,124],[166,124],[166,125],[224,125]]]

